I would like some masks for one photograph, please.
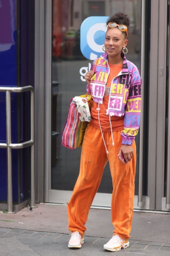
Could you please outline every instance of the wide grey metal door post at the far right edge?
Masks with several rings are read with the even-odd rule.
[[[169,211],[164,198],[166,59],[167,0],[151,0],[148,196],[150,210],[156,211]]]

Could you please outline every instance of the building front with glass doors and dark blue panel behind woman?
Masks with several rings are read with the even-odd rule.
[[[126,56],[138,67],[143,81],[141,126],[136,137],[134,209],[170,211],[169,2],[0,0],[0,86],[34,87],[36,202],[67,204],[71,196],[79,174],[81,148],[69,150],[61,145],[69,101],[85,93],[84,74],[93,59],[102,54],[101,20],[124,12],[131,22]],[[87,31],[101,24],[93,30],[90,41],[84,37],[82,23]],[[0,106],[0,143],[3,143],[6,117],[2,92]],[[12,94],[11,111],[12,142],[29,140],[28,92]],[[0,152],[0,210],[5,210],[6,149],[0,148]],[[12,150],[16,210],[29,203],[30,158],[30,147]],[[92,205],[110,207],[112,190],[107,165]]]

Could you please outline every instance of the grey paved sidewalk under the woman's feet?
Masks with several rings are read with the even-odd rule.
[[[0,256],[103,256],[111,237],[111,211],[91,209],[87,221],[85,242],[81,249],[69,249],[67,207],[38,204],[27,212],[0,212]],[[170,215],[134,213],[130,247],[114,255],[170,255]]]

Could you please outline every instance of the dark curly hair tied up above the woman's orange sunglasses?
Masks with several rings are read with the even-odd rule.
[[[108,18],[106,24],[108,25],[109,22],[116,22],[117,24],[123,24],[128,28],[128,30],[130,29],[129,28],[130,20],[127,14],[117,12],[113,16]],[[126,32],[122,32],[122,33],[126,35]]]

